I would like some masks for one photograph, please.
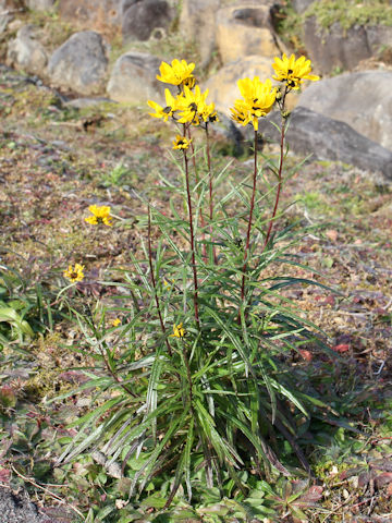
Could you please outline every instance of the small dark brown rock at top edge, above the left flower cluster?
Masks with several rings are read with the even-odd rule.
[[[123,14],[124,40],[148,40],[156,27],[167,28],[173,20],[173,11],[164,0],[144,0],[133,3]]]

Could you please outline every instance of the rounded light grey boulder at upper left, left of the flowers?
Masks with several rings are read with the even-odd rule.
[[[107,47],[94,31],[71,36],[51,56],[48,73],[53,84],[82,95],[94,95],[103,89],[107,74]]]

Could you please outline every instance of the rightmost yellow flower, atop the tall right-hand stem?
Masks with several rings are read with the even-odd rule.
[[[282,59],[274,59],[272,68],[275,72],[272,78],[278,80],[278,82],[285,82],[289,89],[299,89],[304,80],[311,80],[314,82],[320,80],[320,76],[310,74],[311,63],[310,60],[306,60],[305,57],[295,60],[294,54],[290,58],[283,54]]]

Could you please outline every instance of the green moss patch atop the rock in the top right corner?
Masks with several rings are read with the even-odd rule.
[[[320,0],[304,17],[316,16],[323,28],[339,22],[343,29],[353,25],[392,25],[392,5],[387,0]]]

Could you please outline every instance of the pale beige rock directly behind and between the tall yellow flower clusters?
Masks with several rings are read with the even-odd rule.
[[[273,73],[272,62],[270,58],[250,56],[223,66],[203,86],[209,89],[208,100],[215,102],[218,111],[230,115],[230,108],[241,98],[237,81],[246,76],[259,76],[264,82]]]

